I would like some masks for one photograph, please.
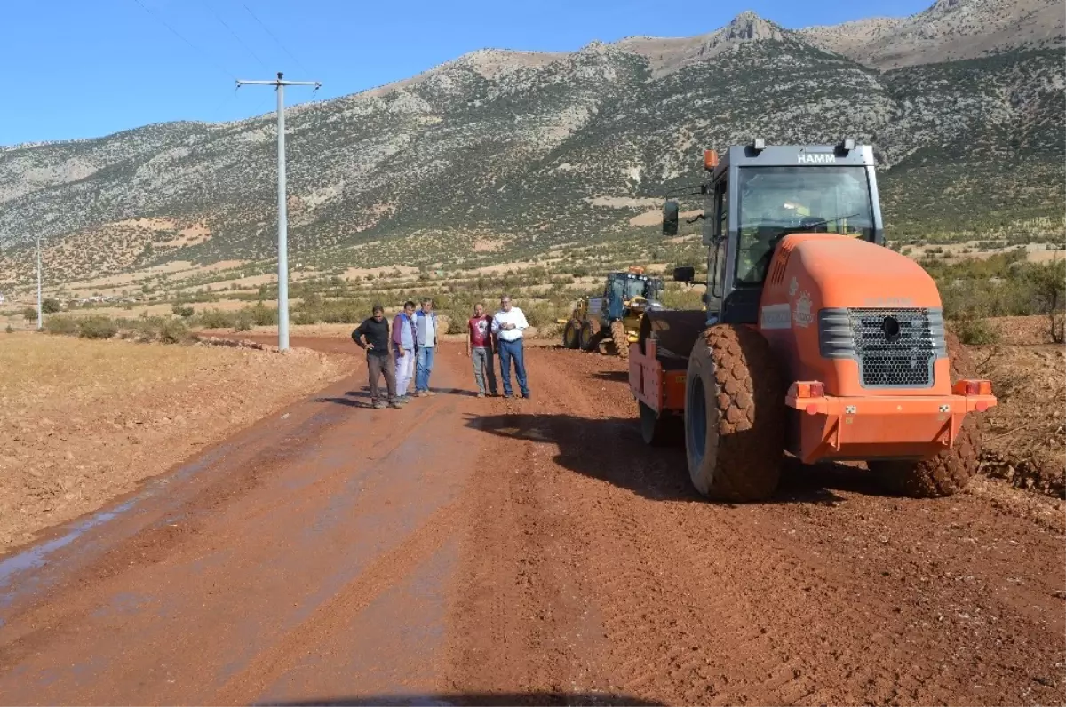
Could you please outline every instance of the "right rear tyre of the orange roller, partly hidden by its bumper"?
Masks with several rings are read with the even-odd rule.
[[[958,338],[948,334],[948,358],[951,360],[951,383],[975,377],[976,370]],[[984,417],[973,413],[963,420],[963,427],[952,448],[923,462],[870,461],[867,466],[889,492],[911,498],[939,498],[958,493],[978,470],[981,454]]]

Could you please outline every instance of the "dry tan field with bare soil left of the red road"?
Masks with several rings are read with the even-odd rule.
[[[0,337],[0,552],[349,370],[300,349]]]

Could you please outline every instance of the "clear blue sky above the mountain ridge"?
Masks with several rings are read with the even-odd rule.
[[[273,110],[264,86],[317,99],[414,76],[483,47],[561,51],[633,34],[689,36],[744,10],[788,28],[909,15],[932,0],[3,0],[0,145]],[[172,31],[173,28],[174,31]],[[264,29],[265,28],[265,29]],[[179,38],[175,32],[183,38]],[[291,89],[287,103],[312,97]]]

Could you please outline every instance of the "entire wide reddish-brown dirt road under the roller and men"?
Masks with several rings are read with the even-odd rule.
[[[531,351],[530,401],[437,360],[434,398],[369,409],[358,369],[0,560],[0,704],[1066,704],[1052,502],[829,467],[710,504],[616,359]]]

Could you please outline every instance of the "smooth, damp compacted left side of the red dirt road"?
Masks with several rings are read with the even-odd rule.
[[[439,381],[448,384],[456,373],[442,364]],[[353,382],[362,387],[356,379],[340,390]],[[404,631],[413,618],[398,601],[424,596],[426,582],[433,594],[451,581],[450,537],[462,527],[452,523],[453,504],[480,436],[457,429],[462,396],[401,411],[355,408],[339,395],[326,402],[338,405],[332,421],[316,418],[322,403],[297,406],[323,429],[316,423],[311,434],[287,438],[292,424],[264,422],[260,431],[286,432],[237,439],[174,497],[146,501],[144,518],[101,527],[94,542],[111,548],[102,566],[120,571],[81,566],[20,607],[0,638],[0,702],[247,704],[264,689],[292,698],[349,696],[386,666],[397,670],[386,671],[383,688],[390,679],[416,691],[436,687],[435,658],[414,678],[402,668],[408,654],[433,649],[442,625]],[[231,478],[246,472],[258,483],[235,485]],[[179,516],[171,515],[175,507]],[[143,558],[150,528],[141,521],[152,518],[195,520],[195,532]],[[371,606],[398,621],[375,625]],[[443,620],[442,609],[419,609],[417,621]],[[353,624],[390,631],[360,638],[389,653],[353,650]]]

